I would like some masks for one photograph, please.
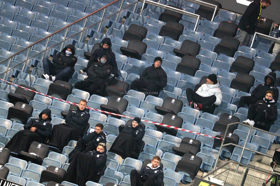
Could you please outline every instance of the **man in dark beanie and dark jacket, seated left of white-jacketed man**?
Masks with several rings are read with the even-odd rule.
[[[131,83],[130,89],[139,91],[146,89],[146,95],[151,94],[153,96],[158,96],[159,91],[161,91],[167,84],[167,75],[161,67],[161,57],[156,57],[153,63],[152,66],[143,70],[139,80],[134,80]]]

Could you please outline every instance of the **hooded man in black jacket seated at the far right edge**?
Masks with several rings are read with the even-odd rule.
[[[275,96],[273,99],[275,102],[277,102],[279,90],[275,86],[275,80],[276,80],[275,72],[269,72],[269,74],[265,76],[265,83],[259,84],[253,90],[251,96],[242,96],[240,98],[238,108],[244,107],[244,104],[247,104],[249,106],[250,104],[255,104],[258,100],[262,100],[265,97],[266,92],[268,90],[272,90],[274,92]]]

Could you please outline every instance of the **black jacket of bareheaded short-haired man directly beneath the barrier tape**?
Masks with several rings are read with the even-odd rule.
[[[90,109],[85,108],[84,110],[80,110],[79,107],[68,112],[65,123],[73,124],[75,128],[83,131],[88,124],[88,120],[90,118],[89,114]]]

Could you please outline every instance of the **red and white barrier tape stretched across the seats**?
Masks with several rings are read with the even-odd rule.
[[[0,80],[1,80],[1,81],[5,81],[5,80],[3,80],[3,79],[1,79],[1,78],[0,78]],[[5,82],[10,83],[10,82],[8,82],[8,81],[5,81]],[[21,87],[21,88],[24,88],[24,87],[19,86],[19,85],[17,85],[17,84],[13,84],[13,83],[10,83],[10,84],[15,85],[15,86],[18,86],[18,87]],[[30,89],[28,89],[28,88],[24,88],[24,89],[25,89],[25,90],[29,90],[29,91],[31,91],[31,92],[35,92],[35,93],[37,93],[37,94],[40,94],[40,95],[43,95],[43,96],[46,96],[46,97],[49,97],[49,98],[53,98],[53,99],[56,99],[56,100],[59,100],[59,101],[63,101],[63,102],[65,102],[65,103],[69,103],[69,104],[73,104],[73,105],[79,106],[79,104],[72,103],[72,102],[69,102],[69,101],[65,101],[65,100],[62,100],[62,99],[59,99],[59,98],[55,98],[55,97],[52,97],[52,96],[49,96],[49,95],[46,95],[46,94],[42,94],[41,92],[36,92],[36,91],[30,90]],[[126,117],[126,118],[133,119],[132,117],[129,117],[129,116],[124,116],[124,115],[121,115],[121,114],[115,114],[115,113],[112,113],[112,112],[107,112],[107,111],[99,110],[99,109],[96,109],[96,108],[90,108],[90,107],[88,107],[88,106],[87,106],[87,108],[89,108],[89,109],[91,109],[91,110],[96,110],[96,111],[98,111],[98,112],[103,112],[103,113],[106,113],[106,114],[111,114],[111,115],[115,115],[115,116],[120,116],[120,117]],[[198,132],[193,132],[193,131],[190,131],[190,130],[186,130],[186,129],[184,129],[184,128],[178,128],[178,127],[175,127],[175,126],[162,124],[162,123],[159,123],[159,122],[147,121],[147,120],[142,120],[142,119],[141,119],[141,121],[145,121],[145,122],[148,122],[148,123],[153,123],[153,124],[156,124],[156,125],[165,126],[165,127],[168,127],[168,128],[174,128],[174,129],[176,129],[176,130],[182,130],[182,131],[194,133],[194,134],[197,134],[197,135],[203,135],[203,136],[208,136],[208,137],[211,137],[211,138],[217,138],[217,137],[215,137],[215,136],[209,136],[209,135],[207,135],[207,134],[201,134],[201,133],[198,133]],[[221,139],[221,140],[222,140],[222,138],[217,138],[217,139]]]

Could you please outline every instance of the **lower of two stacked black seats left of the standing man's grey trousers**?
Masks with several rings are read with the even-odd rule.
[[[217,44],[215,51],[217,54],[225,54],[233,57],[239,47],[240,41],[230,36],[224,36],[219,44]]]

